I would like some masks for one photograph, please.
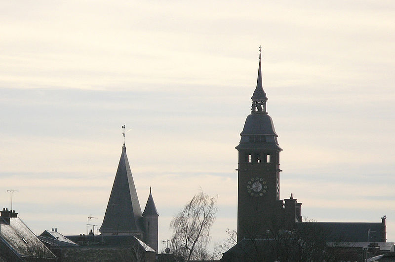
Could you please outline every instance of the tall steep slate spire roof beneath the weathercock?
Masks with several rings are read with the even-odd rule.
[[[134,233],[143,232],[142,228],[140,203],[126,147],[123,146],[106,214],[99,231],[102,234]]]

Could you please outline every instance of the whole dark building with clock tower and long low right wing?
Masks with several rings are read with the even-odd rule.
[[[293,246],[298,241],[317,245],[316,250],[321,251],[328,251],[328,247],[333,251],[333,246],[354,247],[356,243],[358,247],[370,246],[371,242],[378,243],[377,246],[380,243],[388,246],[385,244],[385,216],[378,223],[303,222],[302,203],[298,203],[292,193],[288,199],[279,198],[282,149],[273,120],[267,112],[261,54],[257,85],[251,99],[251,113],[245,120],[240,143],[236,147],[237,245],[227,251],[221,261],[261,261],[263,257],[265,261],[277,261],[278,254],[285,247],[289,249],[282,253],[282,259],[286,255],[291,256],[289,261],[300,261],[298,252],[301,249],[295,248],[298,245]],[[321,254],[327,255],[328,252]]]

